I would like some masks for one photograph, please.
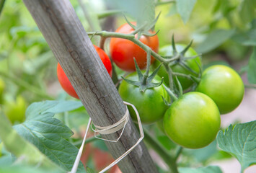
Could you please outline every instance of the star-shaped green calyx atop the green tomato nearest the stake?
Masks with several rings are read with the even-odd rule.
[[[162,66],[162,64],[160,64],[154,71],[152,74],[148,75],[148,73],[146,72],[145,74],[142,74],[141,69],[138,67],[138,64],[136,62],[136,59],[134,58],[134,63],[135,63],[135,67],[136,67],[136,71],[138,74],[138,81],[132,81],[130,79],[125,79],[123,76],[123,80],[125,80],[128,84],[132,84],[134,86],[138,86],[139,87],[139,91],[140,92],[145,92],[146,89],[150,89],[150,88],[154,88],[157,86],[160,86],[163,84],[164,79],[162,78],[162,80],[160,82],[152,82],[154,77],[156,76],[157,72],[159,71],[159,68]]]

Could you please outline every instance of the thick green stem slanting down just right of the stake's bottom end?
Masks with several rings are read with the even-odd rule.
[[[154,148],[154,151],[156,151],[159,156],[162,157],[164,162],[168,165],[169,169],[171,169],[172,173],[178,173],[175,158],[173,158],[173,156],[169,154],[169,151],[167,151],[167,149],[165,149],[159,143],[159,141],[156,141],[156,139],[152,138],[152,136],[146,129],[144,129],[144,140],[146,141],[146,143],[149,144],[149,146]]]

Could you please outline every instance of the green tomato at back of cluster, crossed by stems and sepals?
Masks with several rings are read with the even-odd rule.
[[[186,45],[176,44],[177,52],[181,52],[185,47],[186,47]],[[173,56],[172,45],[166,45],[163,48],[160,48],[159,55]],[[191,47],[185,53],[185,57],[191,57],[191,56],[196,56],[196,55],[198,55],[198,53],[196,53],[195,50]],[[201,60],[200,60],[199,56],[196,58],[193,58],[193,59],[181,60],[181,61],[183,61],[188,67],[190,67],[196,73],[200,72],[200,68],[198,67],[198,65],[201,67]],[[197,62],[198,62],[198,64],[197,64]],[[156,61],[156,63],[154,63],[154,68],[156,68],[159,65],[160,65],[160,62]],[[189,71],[186,68],[180,66],[180,64],[172,64],[172,65],[170,65],[170,67],[172,68],[173,72],[197,76],[192,71]],[[164,77],[164,82],[167,85],[169,85],[169,77],[168,77],[167,71],[165,70],[164,66],[162,66],[159,69],[158,75],[160,77]],[[187,89],[193,84],[193,81],[191,79],[188,79],[184,76],[178,76],[178,79],[180,81],[180,84],[182,85],[182,89]],[[175,84],[177,84],[176,81],[175,81]]]

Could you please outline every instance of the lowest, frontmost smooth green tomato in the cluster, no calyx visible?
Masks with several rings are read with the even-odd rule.
[[[164,115],[167,136],[185,148],[208,146],[216,138],[220,125],[218,107],[200,92],[183,94]]]

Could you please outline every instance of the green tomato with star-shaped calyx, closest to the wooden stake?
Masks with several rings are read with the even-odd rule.
[[[138,76],[136,73],[127,76],[127,79],[136,81]],[[156,76],[153,82],[159,82],[161,78]],[[122,81],[119,86],[118,92],[125,102],[133,104],[141,117],[142,123],[154,123],[161,120],[164,116],[164,112],[167,110],[167,105],[164,104],[162,97],[168,99],[168,94],[164,89],[164,86],[158,86],[151,89],[146,89],[145,92],[139,92],[138,86],[128,84],[126,81]],[[136,113],[131,107],[128,107],[129,112],[133,120],[137,120]]]

